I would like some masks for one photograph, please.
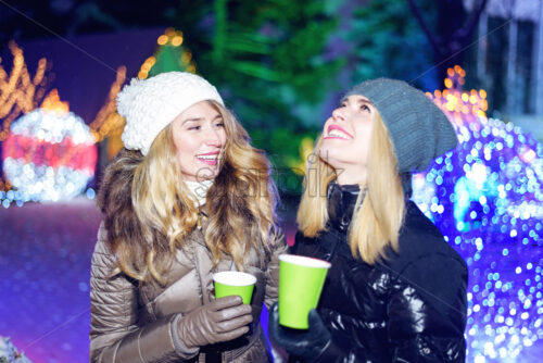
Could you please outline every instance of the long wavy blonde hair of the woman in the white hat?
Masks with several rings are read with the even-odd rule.
[[[257,253],[268,250],[280,231],[275,211],[277,190],[264,152],[250,145],[245,129],[226,108],[209,102],[223,116],[227,141],[220,172],[207,191],[205,243],[214,264],[226,254],[233,259],[239,271],[244,271],[250,249],[254,247]],[[128,160],[121,159],[126,168]],[[115,238],[110,243],[117,255],[118,270],[137,280],[165,283],[163,275],[176,249],[185,247],[187,237],[197,227],[199,210],[182,183],[180,168],[175,167],[177,164],[168,126],[134,168],[131,204],[141,236]],[[112,170],[115,168],[121,166]],[[115,214],[110,217],[115,218]],[[127,231],[117,229],[113,236],[127,236]]]

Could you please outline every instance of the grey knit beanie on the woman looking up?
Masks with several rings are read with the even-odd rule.
[[[363,82],[344,97],[365,96],[379,111],[389,132],[400,174],[422,172],[431,161],[458,143],[445,114],[422,91],[403,80]]]

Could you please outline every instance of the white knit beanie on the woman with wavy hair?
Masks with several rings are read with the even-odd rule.
[[[224,105],[217,89],[192,73],[167,72],[148,79],[132,78],[117,95],[117,111],[126,118],[121,137],[125,148],[147,155],[164,127],[192,104],[205,100]]]

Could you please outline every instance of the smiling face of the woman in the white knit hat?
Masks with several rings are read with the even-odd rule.
[[[214,178],[226,143],[223,116],[207,101],[194,103],[172,122],[177,162],[187,180]]]

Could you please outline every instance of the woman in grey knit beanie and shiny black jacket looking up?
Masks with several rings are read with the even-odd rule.
[[[467,267],[409,201],[411,173],[452,150],[443,112],[404,82],[351,89],[308,160],[290,252],[331,262],[310,328],[272,339],[306,362],[463,362]]]

